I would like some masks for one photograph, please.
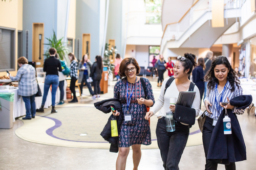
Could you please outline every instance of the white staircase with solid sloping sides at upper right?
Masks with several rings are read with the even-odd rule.
[[[224,0],[224,27],[211,27],[211,4],[214,0],[199,0],[179,20],[166,25],[160,53],[167,48],[209,48],[241,17],[245,0]]]

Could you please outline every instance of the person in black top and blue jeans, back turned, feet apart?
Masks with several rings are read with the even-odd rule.
[[[39,109],[36,109],[37,112],[44,112],[44,106],[46,103],[46,98],[52,85],[52,111],[51,113],[56,113],[55,110],[55,98],[56,91],[59,85],[59,73],[62,71],[60,61],[55,58],[57,51],[55,48],[49,49],[50,57],[45,60],[44,63],[44,72],[46,72],[45,87],[44,87],[44,96],[42,97],[42,104]]]

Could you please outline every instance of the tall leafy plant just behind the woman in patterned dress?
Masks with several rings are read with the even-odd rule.
[[[115,48],[109,48],[108,43],[105,44],[105,51],[104,51],[104,57],[103,57],[103,65],[108,66],[108,72],[109,75],[112,74],[112,69],[114,68],[114,64],[110,63],[110,56],[114,56],[114,54],[117,52]]]

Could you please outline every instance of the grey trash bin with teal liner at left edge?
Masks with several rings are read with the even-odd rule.
[[[11,129],[13,126],[14,94],[0,92],[0,129]]]

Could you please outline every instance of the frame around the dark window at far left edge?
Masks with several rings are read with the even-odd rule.
[[[13,41],[11,44],[11,68],[6,68],[6,69],[0,69],[0,72],[4,72],[6,70],[8,71],[16,71],[16,29],[14,28],[8,28],[8,27],[1,27],[0,29],[4,30],[10,30],[12,31],[11,33],[11,40]]]

